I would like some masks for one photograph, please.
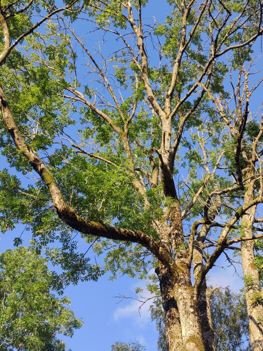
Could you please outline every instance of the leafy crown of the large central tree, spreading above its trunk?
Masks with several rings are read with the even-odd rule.
[[[28,206],[23,220],[35,240],[62,243],[63,254],[47,251],[54,262],[66,252],[74,255],[72,229],[63,221],[91,243],[98,240],[102,223],[105,232],[114,232],[108,225],[115,225],[117,236],[107,238],[147,242],[154,255],[162,243],[170,258],[176,255],[171,225],[176,206],[189,221],[186,236],[188,224],[207,221],[215,210],[219,228],[226,220],[238,224],[244,169],[249,155],[260,156],[262,147],[260,118],[256,111],[252,115],[252,107],[248,113],[253,88],[247,83],[251,65],[246,66],[262,34],[260,2],[168,2],[169,14],[157,24],[148,16],[150,2],[90,1],[81,9],[76,2],[63,10],[53,3],[29,3],[20,18],[23,5],[6,7],[3,15],[3,30],[8,28],[22,47],[7,49],[1,84],[27,150],[18,142],[15,147],[14,135],[5,128],[1,146],[11,166],[28,175],[33,165],[42,181],[31,179],[29,187],[22,187],[4,171],[2,194],[8,200],[3,213],[11,216],[12,209],[13,219],[20,221]],[[38,32],[37,14],[49,19]],[[85,24],[81,28],[89,32],[89,41],[78,21]],[[3,47],[7,44],[4,38]],[[14,182],[18,193],[10,194]],[[260,184],[255,189],[260,196]],[[55,220],[51,200],[63,221]],[[3,229],[13,225],[10,217],[3,223]],[[125,235],[119,228],[127,229]],[[189,255],[192,239],[183,244]],[[98,243],[98,252],[103,245]],[[121,255],[122,248],[112,257]],[[136,267],[141,268],[144,263]],[[91,271],[97,278],[97,268]]]

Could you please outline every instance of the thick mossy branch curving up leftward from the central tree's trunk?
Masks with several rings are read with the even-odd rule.
[[[88,235],[96,235],[107,239],[130,241],[139,243],[152,252],[172,274],[176,273],[176,266],[170,256],[170,252],[160,242],[154,241],[145,233],[137,230],[117,228],[102,223],[86,220],[80,217],[64,200],[62,192],[49,168],[45,165],[37,153],[25,142],[24,137],[18,129],[16,121],[9,108],[4,91],[0,86],[0,105],[4,123],[14,140],[16,147],[28,159],[31,166],[40,175],[44,184],[48,187],[54,209],[62,221],[71,228]]]

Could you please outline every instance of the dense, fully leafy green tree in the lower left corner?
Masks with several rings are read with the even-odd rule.
[[[64,351],[58,334],[72,336],[82,322],[52,292],[46,260],[25,247],[0,254],[0,347],[3,351]]]

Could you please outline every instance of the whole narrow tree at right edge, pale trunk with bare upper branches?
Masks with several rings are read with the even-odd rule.
[[[250,47],[247,49],[251,50]],[[222,94],[215,96],[208,92],[211,101],[217,112],[227,123],[229,133],[233,140],[239,138],[239,151],[234,157],[238,157],[239,177],[244,185],[243,206],[251,204],[257,195],[261,195],[258,182],[261,182],[261,156],[262,156],[262,119],[259,122],[257,117],[262,114],[261,106],[250,109],[252,94],[256,87],[262,82],[254,81],[249,87],[251,75],[256,73],[252,60],[244,65],[246,54],[239,53],[241,59],[238,66],[229,67],[229,81],[231,90],[229,96],[224,98]],[[236,78],[233,77],[233,69],[236,71]],[[235,83],[236,81],[236,83]],[[228,111],[228,112],[226,112]],[[229,113],[231,111],[231,114]],[[262,116],[262,115],[261,115]],[[240,121],[242,124],[240,124]],[[244,129],[242,131],[242,129]],[[242,133],[246,135],[241,138]],[[229,169],[233,156],[229,157]],[[236,162],[237,163],[237,162]],[[249,316],[250,343],[252,349],[260,349],[262,346],[263,329],[261,326],[263,316],[263,296],[260,291],[260,264],[256,265],[255,248],[257,249],[257,259],[260,257],[261,240],[251,240],[256,238],[256,232],[261,219],[256,218],[256,206],[251,206],[242,216],[238,231],[241,236],[240,255],[243,268],[245,298]],[[259,236],[260,237],[260,236]],[[248,239],[248,240],[247,240]],[[250,240],[249,240],[250,239]],[[231,241],[235,242],[235,239]],[[258,263],[260,262],[260,259]]]

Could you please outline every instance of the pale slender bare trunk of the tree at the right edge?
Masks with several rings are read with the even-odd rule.
[[[253,200],[253,187],[244,196],[244,206]],[[241,221],[241,236],[252,238],[255,206],[246,211]],[[254,240],[241,242],[241,261],[248,312],[249,337],[252,351],[263,350],[263,294],[259,286],[258,269],[254,263]]]

